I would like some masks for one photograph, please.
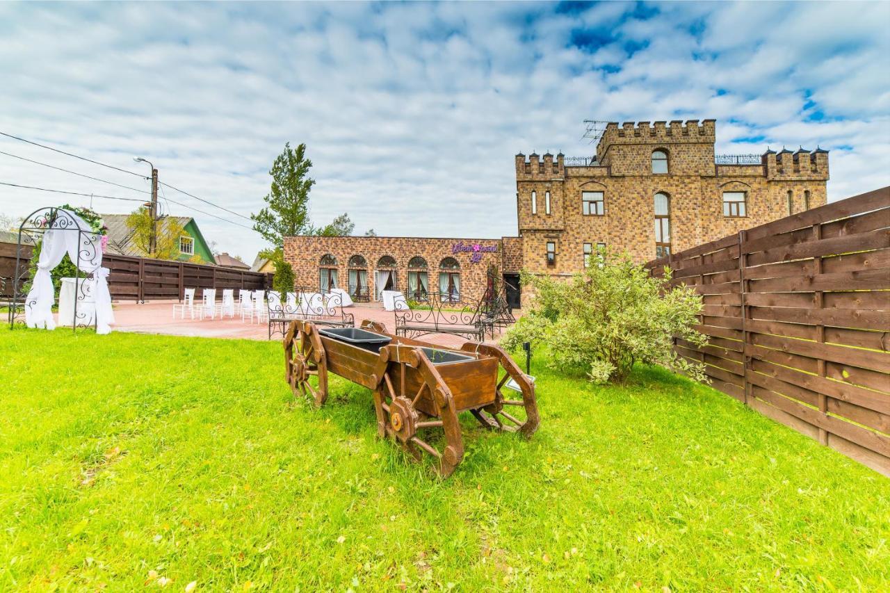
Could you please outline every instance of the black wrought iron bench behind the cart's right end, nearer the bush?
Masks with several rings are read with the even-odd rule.
[[[395,335],[420,337],[428,334],[454,334],[482,341],[490,322],[481,316],[478,305],[453,300],[449,295],[431,292],[422,308],[409,308],[404,296],[395,299]]]

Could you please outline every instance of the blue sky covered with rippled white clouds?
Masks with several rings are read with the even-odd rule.
[[[306,142],[317,223],[499,237],[516,232],[516,152],[589,155],[585,119],[716,118],[718,152],[831,150],[834,200],[890,183],[888,22],[886,2],[3,3],[0,132],[136,173],[149,158],[241,215],[284,143]],[[5,136],[0,151],[149,189]],[[4,154],[0,182],[144,198]],[[0,185],[6,215],[65,199],[90,203]],[[161,202],[248,263],[264,247],[244,218]]]

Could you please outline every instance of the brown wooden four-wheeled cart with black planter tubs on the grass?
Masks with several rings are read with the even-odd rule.
[[[530,436],[538,429],[534,383],[497,345],[466,342],[459,349],[446,348],[388,334],[371,321],[360,329],[380,337],[382,344],[361,347],[332,337],[336,329],[292,322],[284,351],[285,375],[294,394],[324,404],[329,372],[368,387],[374,391],[379,435],[389,436],[418,461],[424,452],[433,456],[442,477],[451,475],[464,457],[460,412],[469,410],[492,430]],[[522,399],[507,399],[502,390],[521,393]],[[441,451],[428,436],[439,429],[444,434]]]

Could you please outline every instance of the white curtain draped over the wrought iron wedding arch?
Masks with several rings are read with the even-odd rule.
[[[61,263],[66,253],[72,264],[79,264],[81,272],[93,274],[96,280],[96,333],[109,333],[109,324],[114,323],[114,313],[111,311],[109,294],[109,269],[101,267],[101,235],[93,232],[80,216],[61,208],[56,210],[50,230],[44,232],[34,284],[25,299],[25,322],[29,328],[55,329],[55,293],[50,272]]]

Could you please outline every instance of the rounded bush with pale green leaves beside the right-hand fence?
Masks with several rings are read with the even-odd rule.
[[[668,288],[668,280],[669,271],[654,278],[627,254],[605,250],[570,280],[522,272],[522,286],[534,288],[536,296],[502,344],[511,351],[522,342],[545,345],[549,366],[586,374],[595,383],[623,382],[635,362],[706,380],[701,363],[673,349],[675,336],[707,343],[693,329],[701,296],[686,286]]]

